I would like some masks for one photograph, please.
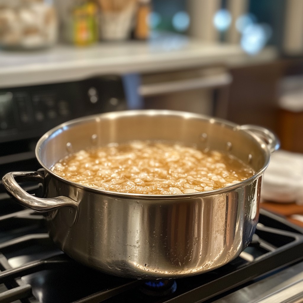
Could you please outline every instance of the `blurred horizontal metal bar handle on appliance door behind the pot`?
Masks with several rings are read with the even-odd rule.
[[[171,92],[181,92],[199,88],[217,88],[229,85],[232,81],[231,74],[224,72],[218,75],[204,76],[191,79],[169,81],[163,83],[142,84],[138,93],[142,97],[161,95]]]

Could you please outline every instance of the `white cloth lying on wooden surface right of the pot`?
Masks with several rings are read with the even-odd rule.
[[[261,198],[303,205],[303,155],[278,150],[265,170]]]

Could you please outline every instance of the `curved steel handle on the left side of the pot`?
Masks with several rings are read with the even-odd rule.
[[[18,200],[18,203],[34,211],[45,212],[55,210],[64,206],[78,207],[78,203],[68,197],[59,196],[55,198],[38,198],[30,195],[17,183],[18,181],[43,182],[43,171],[13,171],[2,178],[2,183],[8,193]]]

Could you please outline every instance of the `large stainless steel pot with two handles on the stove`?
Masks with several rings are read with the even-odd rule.
[[[73,151],[108,142],[161,139],[232,153],[256,174],[226,188],[139,195],[88,188],[51,167]],[[173,111],[125,111],[76,119],[39,140],[38,172],[11,172],[3,184],[19,203],[45,215],[50,237],[70,257],[112,275],[181,278],[226,264],[251,241],[261,178],[278,140],[267,129]],[[17,181],[43,183],[44,198]]]

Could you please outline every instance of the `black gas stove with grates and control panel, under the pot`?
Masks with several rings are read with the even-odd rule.
[[[34,148],[45,130],[79,115],[125,109],[120,82],[107,77],[1,91],[0,122],[5,123],[0,123],[0,177],[40,168]],[[42,195],[36,184],[23,187]],[[0,302],[252,303],[279,302],[277,296],[303,298],[303,229],[262,209],[253,241],[230,263],[188,278],[145,281],[110,276],[69,258],[49,238],[44,217],[18,205],[1,182],[0,205]]]

